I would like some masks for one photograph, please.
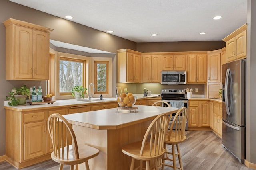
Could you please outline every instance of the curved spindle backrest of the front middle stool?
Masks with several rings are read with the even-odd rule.
[[[144,135],[140,156],[157,156],[163,154],[164,139],[169,124],[169,116],[165,113],[158,115],[148,126]],[[149,152],[146,149],[150,149]]]

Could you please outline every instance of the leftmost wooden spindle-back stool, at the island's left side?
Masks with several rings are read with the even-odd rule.
[[[68,121],[60,114],[54,113],[48,118],[48,130],[52,139],[52,160],[63,165],[70,165],[70,170],[78,170],[78,164],[85,162],[86,170],[89,170],[88,160],[99,154],[99,150],[88,145],[78,145],[75,133]],[[70,145],[72,141],[72,144]]]

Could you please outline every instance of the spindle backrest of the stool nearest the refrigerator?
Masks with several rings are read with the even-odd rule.
[[[168,140],[170,140],[171,136],[175,135],[175,140],[183,140],[185,137],[185,128],[186,128],[186,122],[188,119],[188,109],[186,107],[182,107],[178,110],[178,112],[175,114],[170,129],[173,129],[175,125],[175,129],[170,130],[168,134]],[[175,133],[175,134],[172,134]]]

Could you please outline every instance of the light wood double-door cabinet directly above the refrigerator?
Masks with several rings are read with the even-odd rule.
[[[227,62],[246,57],[246,29],[247,25],[244,24],[236,31],[223,39],[226,42],[226,59]]]

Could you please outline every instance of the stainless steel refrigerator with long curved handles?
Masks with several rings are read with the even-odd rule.
[[[246,59],[222,65],[222,145],[245,158]]]

